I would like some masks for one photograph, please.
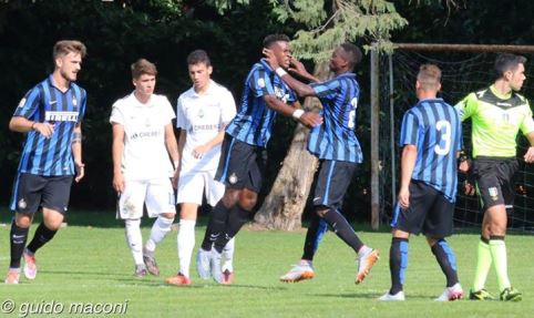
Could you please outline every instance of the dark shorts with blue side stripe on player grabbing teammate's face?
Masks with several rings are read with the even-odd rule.
[[[357,165],[351,162],[322,161],[314,192],[314,206],[340,208]]]

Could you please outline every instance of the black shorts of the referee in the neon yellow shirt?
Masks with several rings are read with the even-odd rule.
[[[514,175],[517,170],[518,163],[515,157],[474,160],[473,176],[484,209],[500,204],[504,204],[506,208],[514,206]]]

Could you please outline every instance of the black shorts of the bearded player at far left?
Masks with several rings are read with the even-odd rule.
[[[10,207],[18,213],[33,214],[39,207],[44,207],[64,214],[71,196],[72,178],[72,175],[18,174]]]

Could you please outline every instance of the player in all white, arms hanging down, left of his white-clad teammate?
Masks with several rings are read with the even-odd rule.
[[[133,93],[113,104],[113,188],[119,195],[117,218],[124,219],[126,243],[135,263],[136,277],[147,271],[160,275],[154,252],[171,230],[176,214],[171,177],[178,164],[178,147],[167,98],[154,94],[156,66],[145,59],[132,64]],[[157,217],[143,247],[143,204],[150,217]]]

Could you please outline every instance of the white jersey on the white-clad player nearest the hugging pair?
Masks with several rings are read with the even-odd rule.
[[[236,103],[232,93],[214,81],[199,95],[191,88],[179,95],[176,106],[176,127],[185,130],[187,139],[182,151],[182,173],[216,171],[220,156],[220,144],[204,154],[193,156],[193,150],[213,140],[236,115]]]

